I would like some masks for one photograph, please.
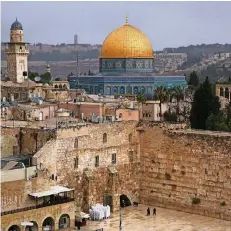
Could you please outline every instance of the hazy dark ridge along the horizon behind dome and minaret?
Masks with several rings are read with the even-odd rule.
[[[100,55],[102,45],[78,44],[79,59],[97,59]],[[190,67],[198,63],[202,58],[209,57],[217,52],[231,52],[231,44],[201,44],[190,45],[187,47],[165,48],[169,53],[186,53],[188,62],[183,65],[183,68]],[[1,57],[5,60],[4,46],[1,46]],[[76,53],[73,44],[31,44],[30,45],[30,61],[74,61]]]

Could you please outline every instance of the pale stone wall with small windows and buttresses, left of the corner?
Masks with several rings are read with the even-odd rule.
[[[59,129],[57,139],[49,141],[33,161],[38,168],[48,169],[59,184],[75,189],[76,207],[88,212],[92,204],[103,203],[104,196],[110,195],[115,211],[121,194],[138,198],[140,147],[136,124],[130,121]],[[95,165],[96,156],[99,166]]]

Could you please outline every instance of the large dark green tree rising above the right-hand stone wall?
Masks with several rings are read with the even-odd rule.
[[[208,77],[195,91],[192,109],[190,113],[191,127],[206,129],[206,120],[211,115],[217,115],[220,110],[220,102],[217,96],[212,94],[212,87]]]

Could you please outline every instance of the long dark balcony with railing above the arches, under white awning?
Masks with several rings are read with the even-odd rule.
[[[54,206],[54,205],[59,205],[59,204],[64,204],[64,203],[68,203],[68,202],[72,202],[74,201],[74,198],[71,197],[64,197],[64,198],[56,198],[55,201],[47,201],[44,203],[41,203],[39,205],[35,205],[35,206],[30,206],[30,207],[26,207],[26,208],[20,208],[20,209],[14,209],[14,210],[10,210],[10,211],[5,211],[5,212],[1,212],[1,216],[4,215],[8,215],[8,214],[14,214],[14,213],[20,213],[20,212],[24,212],[24,211],[28,211],[28,210],[33,210],[33,209],[40,209],[40,208],[44,208],[47,206]]]

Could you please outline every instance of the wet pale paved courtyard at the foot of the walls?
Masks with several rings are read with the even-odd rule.
[[[157,208],[157,216],[146,216],[147,206],[122,209],[123,231],[231,231],[231,222],[210,217]],[[151,212],[152,209],[151,208]],[[88,221],[82,231],[103,228],[103,231],[119,231],[119,213],[104,221]]]

